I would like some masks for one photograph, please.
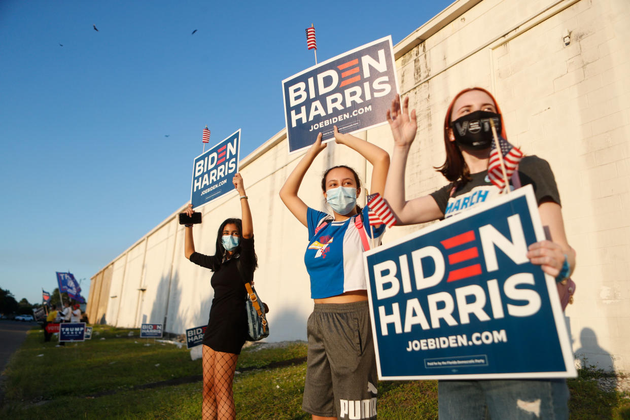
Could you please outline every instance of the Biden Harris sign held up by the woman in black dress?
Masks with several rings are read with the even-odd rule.
[[[232,178],[238,172],[241,130],[195,157],[190,202],[200,207],[234,190]]]

